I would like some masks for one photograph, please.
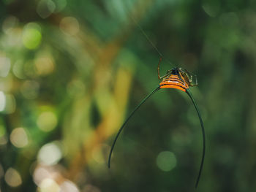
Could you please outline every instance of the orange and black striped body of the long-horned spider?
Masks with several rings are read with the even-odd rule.
[[[187,82],[187,78],[183,77],[178,69],[172,69],[170,75],[165,77],[159,85],[160,88],[176,88],[184,92],[186,92],[186,89],[189,88],[189,82]]]

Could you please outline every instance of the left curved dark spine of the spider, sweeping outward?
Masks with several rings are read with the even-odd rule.
[[[118,133],[116,134],[116,138],[114,139],[114,142],[112,144],[110,153],[108,155],[108,168],[110,168],[110,160],[111,160],[111,155],[113,152],[113,149],[116,145],[116,140],[119,136],[119,134],[121,133],[121,131],[123,130],[124,126],[127,124],[127,122],[129,121],[130,118],[132,118],[132,115],[140,108],[140,106],[145,103],[145,101],[150,98],[154,93],[156,93],[157,91],[159,91],[160,86],[158,86],[156,89],[154,89],[154,91],[152,91],[151,93],[148,94],[148,96],[146,96],[142,101],[140,101],[140,104],[137,105],[137,107],[135,107],[135,110],[133,110],[133,112],[128,116],[127,120],[124,121],[124,124],[121,126],[121,128],[119,129]]]

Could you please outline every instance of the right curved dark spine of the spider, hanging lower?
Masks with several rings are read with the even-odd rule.
[[[203,161],[204,161],[205,153],[206,153],[206,134],[205,134],[205,129],[203,127],[203,120],[201,118],[201,115],[200,115],[199,109],[197,107],[197,104],[195,103],[195,99],[192,96],[192,92],[190,91],[189,88],[186,89],[186,92],[189,95],[190,99],[192,100],[192,102],[193,102],[193,104],[195,106],[195,110],[197,110],[197,115],[198,115],[198,118],[199,118],[200,123],[201,123],[202,136],[203,136],[203,154],[202,154],[200,169],[199,169],[198,176],[197,176],[197,182],[195,183],[195,188],[197,188],[197,185],[199,183],[200,176],[201,176],[201,173],[202,173],[202,170],[203,170]]]

